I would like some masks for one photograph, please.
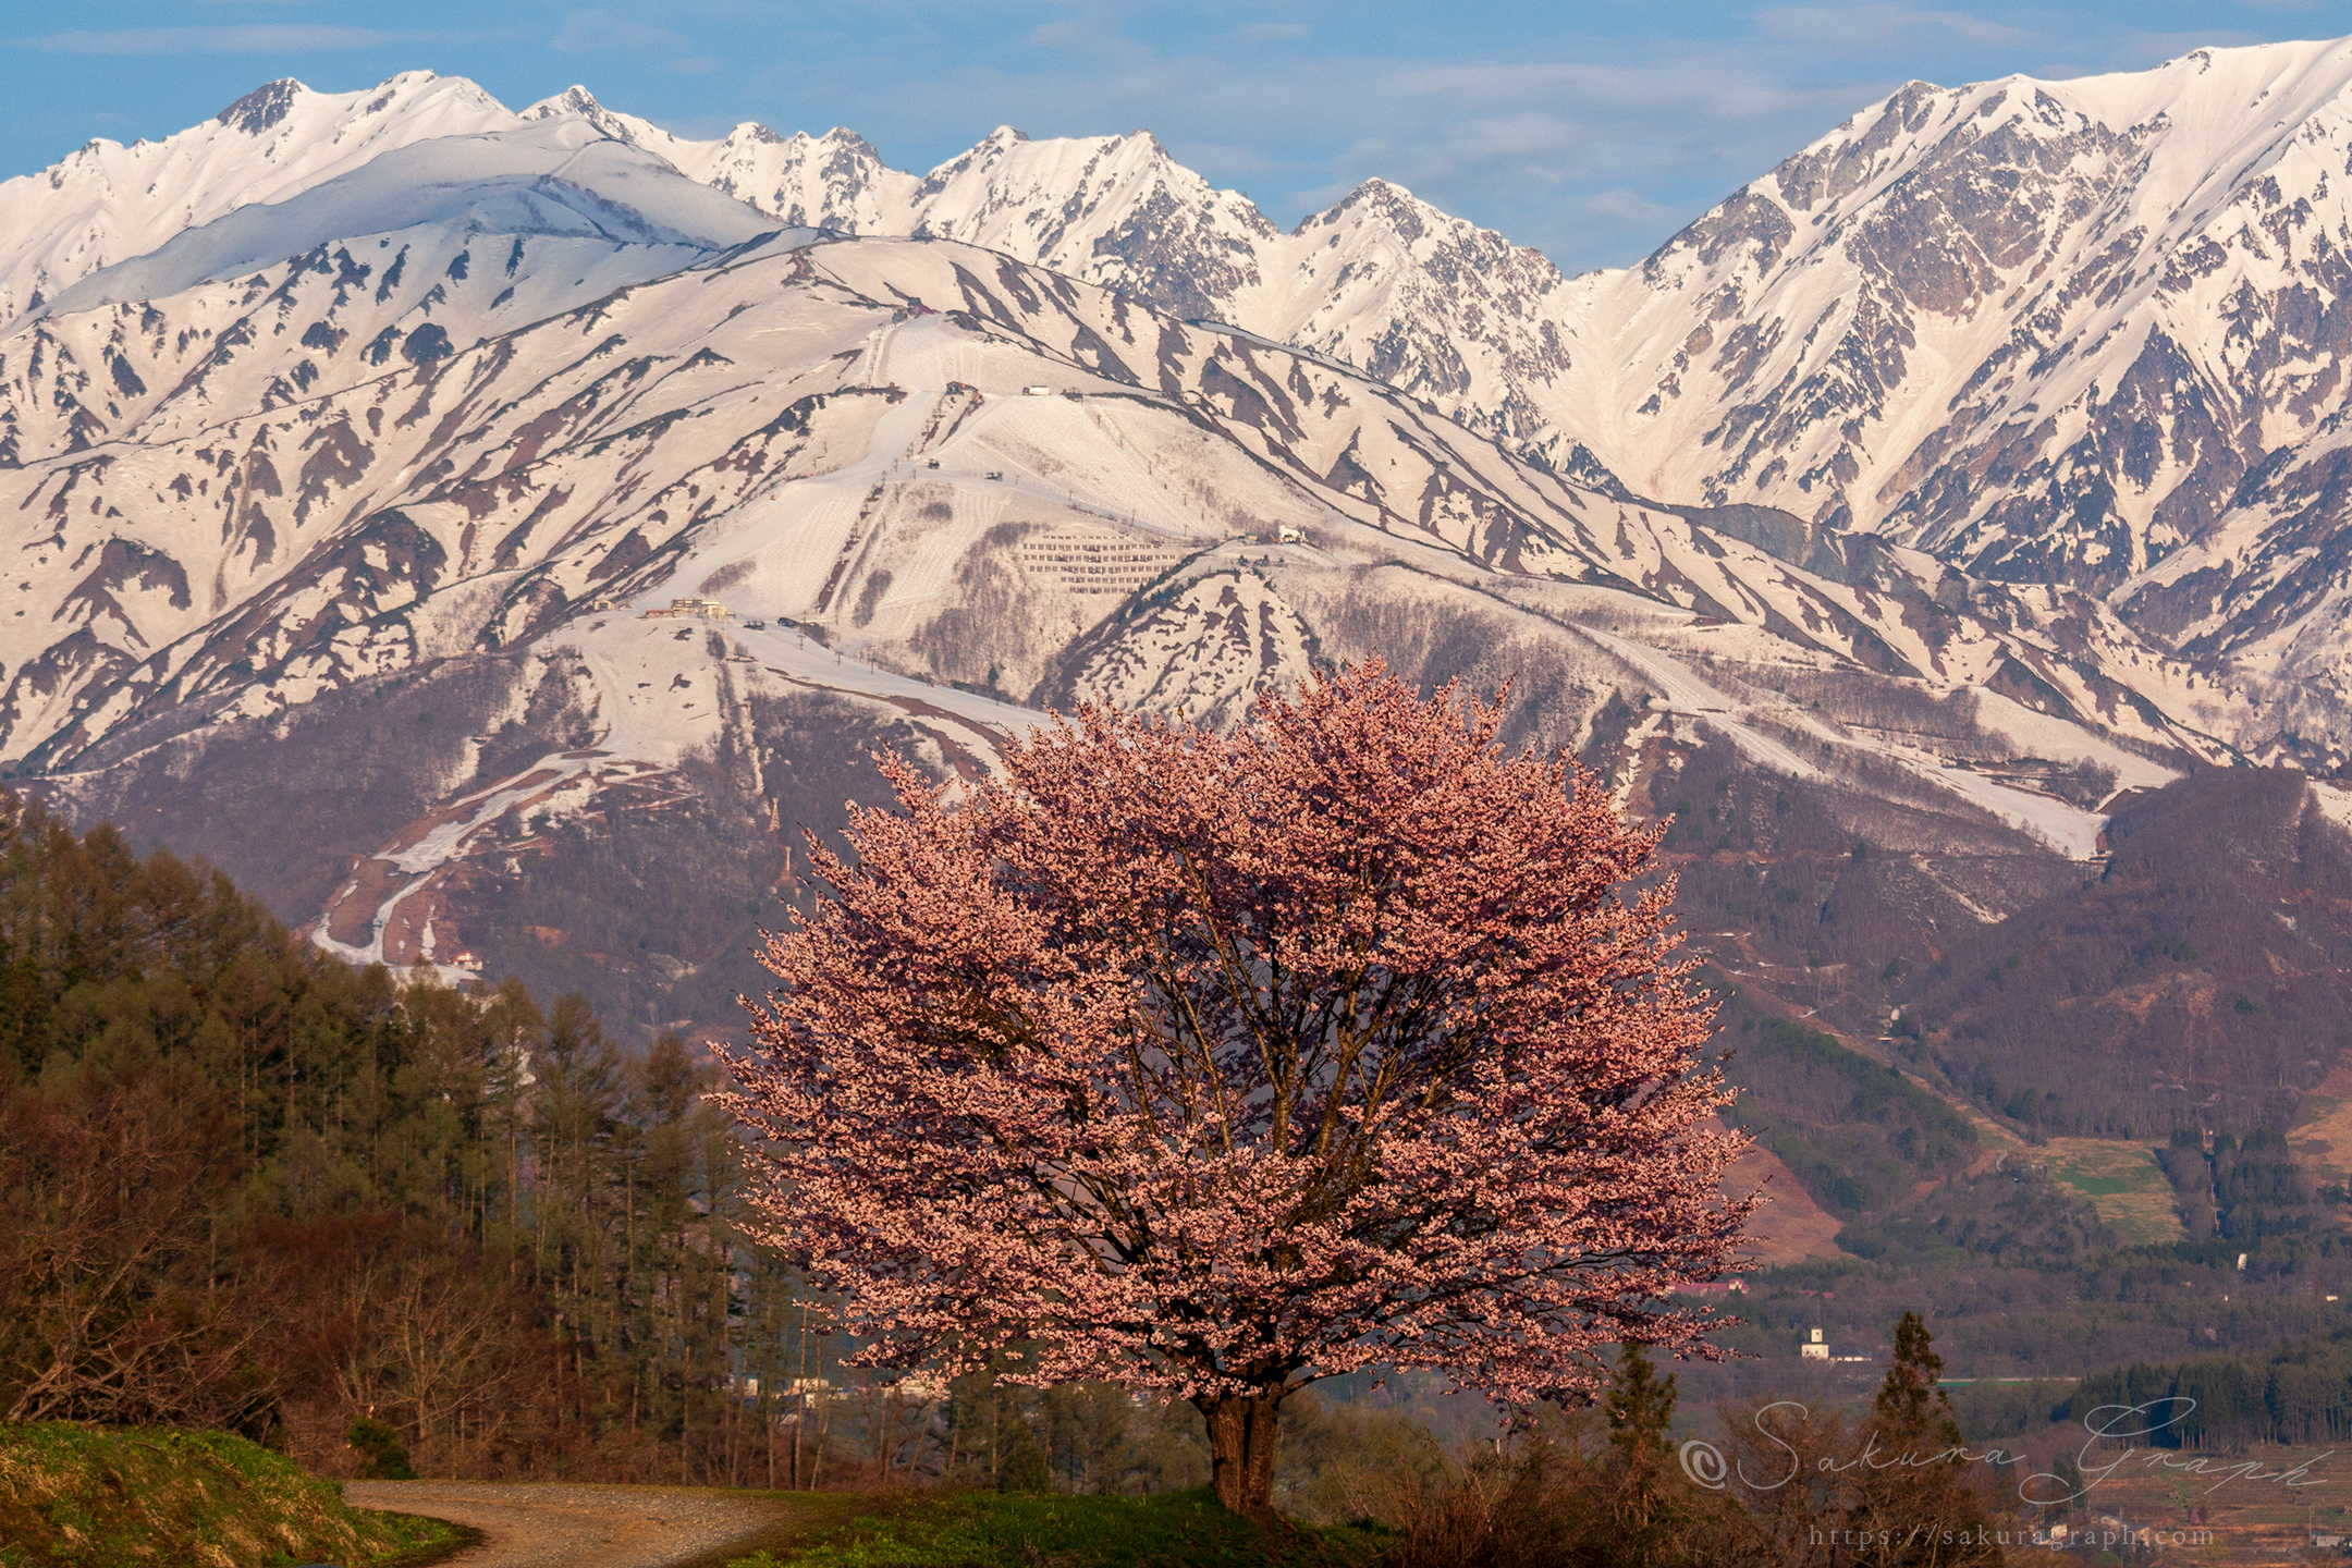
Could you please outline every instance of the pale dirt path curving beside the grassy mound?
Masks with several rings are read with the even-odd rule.
[[[786,1509],[673,1486],[496,1481],[346,1481],[362,1509],[473,1526],[480,1547],[456,1568],[670,1568],[774,1526]]]

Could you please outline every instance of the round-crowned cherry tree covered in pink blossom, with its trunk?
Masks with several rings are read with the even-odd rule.
[[[1188,1399],[1263,1521],[1319,1378],[1571,1401],[1606,1345],[1719,1354],[1668,1293],[1755,1199],[1672,886],[1628,891],[1658,835],[1498,703],[1374,663],[1230,736],[1087,705],[974,788],[884,759],[729,1053],[861,1361]]]

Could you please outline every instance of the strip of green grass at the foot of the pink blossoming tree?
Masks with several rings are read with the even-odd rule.
[[[807,1497],[807,1495],[802,1495]],[[1162,1497],[898,1493],[802,1514],[790,1537],[724,1568],[1364,1568],[1381,1535],[1296,1528],[1268,1535],[1209,1490]]]

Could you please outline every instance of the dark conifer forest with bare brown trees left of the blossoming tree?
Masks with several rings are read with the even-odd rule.
[[[729,1363],[771,1387],[797,1345],[677,1039],[350,969],[7,795],[0,987],[7,1420],[334,1467],[374,1413],[440,1469],[746,1474]]]

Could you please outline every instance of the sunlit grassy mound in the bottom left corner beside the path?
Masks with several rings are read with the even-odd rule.
[[[421,1563],[463,1535],[362,1514],[334,1481],[223,1432],[0,1427],[0,1568]]]

